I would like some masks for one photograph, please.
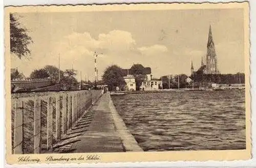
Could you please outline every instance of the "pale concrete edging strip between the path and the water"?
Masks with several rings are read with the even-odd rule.
[[[138,145],[138,142],[135,140],[134,136],[131,134],[131,132],[127,129],[126,125],[123,122],[123,119],[121,116],[118,114],[113,101],[111,99],[110,93],[108,94],[109,97],[109,107],[114,119],[114,124],[116,127],[116,131],[118,132],[122,143],[123,147],[126,152],[141,152],[143,149]]]

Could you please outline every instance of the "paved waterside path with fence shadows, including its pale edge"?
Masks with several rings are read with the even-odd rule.
[[[142,151],[125,127],[111,100],[103,94],[68,131],[67,136],[54,145],[50,153],[89,153]]]

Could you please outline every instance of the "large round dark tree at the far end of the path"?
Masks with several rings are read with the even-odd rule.
[[[108,85],[110,91],[116,90],[116,87],[123,88],[125,86],[122,69],[117,65],[107,67],[102,80]]]

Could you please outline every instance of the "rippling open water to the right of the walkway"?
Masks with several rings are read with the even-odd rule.
[[[245,149],[245,91],[113,95],[144,151]]]

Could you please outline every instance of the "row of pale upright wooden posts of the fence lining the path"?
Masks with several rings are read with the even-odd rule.
[[[100,94],[100,92],[98,93]],[[61,136],[67,133],[79,117],[93,103],[93,95],[91,91],[77,91],[72,93],[56,93],[46,98],[33,98],[34,100],[34,148],[33,153],[41,152],[41,116],[42,101],[47,101],[47,131],[46,131],[46,148],[53,148],[53,141],[61,140]],[[98,97],[96,95],[96,97]],[[62,98],[62,101],[60,99]],[[46,100],[45,100],[46,99]],[[54,103],[55,99],[55,103]],[[23,99],[14,100],[14,137],[13,137],[13,153],[24,153],[24,101]],[[62,103],[60,108],[60,104]],[[55,106],[55,135],[53,135],[53,109]]]

